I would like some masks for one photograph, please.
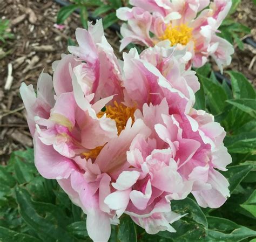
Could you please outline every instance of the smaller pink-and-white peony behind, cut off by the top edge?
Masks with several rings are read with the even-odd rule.
[[[130,0],[133,8],[120,8],[117,17],[127,21],[121,27],[120,50],[129,43],[154,46],[161,41],[191,53],[191,66],[203,66],[211,56],[221,72],[231,63],[233,46],[216,36],[231,8],[231,0]],[[210,8],[205,9],[210,4]]]

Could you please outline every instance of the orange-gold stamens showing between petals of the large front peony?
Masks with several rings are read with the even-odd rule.
[[[126,107],[123,105],[123,103],[118,104],[116,101],[114,101],[113,106],[106,105],[105,110],[100,111],[97,114],[97,117],[102,117],[104,114],[106,114],[106,117],[110,117],[110,119],[114,120],[117,126],[117,134],[119,135],[125,128],[130,117],[132,118],[132,124],[134,123],[135,110],[135,107]],[[89,150],[88,152],[82,153],[82,155],[86,158],[86,160],[89,158],[96,159],[103,147],[104,146],[98,146]]]

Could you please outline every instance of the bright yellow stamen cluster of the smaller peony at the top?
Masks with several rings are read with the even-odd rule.
[[[166,26],[164,34],[159,37],[160,40],[169,39],[171,46],[181,44],[186,45],[192,39],[192,28],[186,24],[172,27],[171,24]]]

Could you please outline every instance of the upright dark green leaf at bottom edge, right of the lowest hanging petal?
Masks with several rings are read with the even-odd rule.
[[[117,238],[122,242],[137,242],[135,225],[130,217],[121,219]]]

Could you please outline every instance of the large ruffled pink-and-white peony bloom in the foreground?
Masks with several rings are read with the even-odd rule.
[[[25,84],[21,95],[35,165],[83,209],[92,240],[107,241],[123,213],[147,233],[175,232],[170,224],[185,215],[171,200],[191,192],[200,206],[222,205],[228,182],[216,169],[231,157],[224,129],[192,108],[190,54],[156,45],[118,60],[101,20],[76,38],[79,47],[53,63],[53,82],[41,74],[37,96]]]

